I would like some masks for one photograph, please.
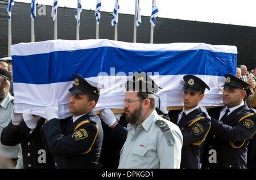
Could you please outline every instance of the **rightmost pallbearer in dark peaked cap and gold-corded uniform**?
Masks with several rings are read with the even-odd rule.
[[[212,128],[205,141],[202,168],[246,168],[247,146],[255,133],[255,110],[243,102],[248,83],[225,74],[222,108],[209,111]]]

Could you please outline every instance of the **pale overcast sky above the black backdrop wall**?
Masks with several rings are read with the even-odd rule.
[[[29,2],[31,0],[14,0]],[[52,5],[53,0],[36,0],[40,5]],[[159,17],[197,20],[256,27],[255,0],[156,0]],[[101,11],[112,12],[115,0],[101,0]],[[152,0],[140,0],[141,14],[150,16]],[[77,0],[59,0],[59,6],[76,8]],[[119,0],[119,13],[134,14],[135,0]],[[82,9],[95,10],[96,0],[82,0]],[[142,22],[143,23],[143,22]]]

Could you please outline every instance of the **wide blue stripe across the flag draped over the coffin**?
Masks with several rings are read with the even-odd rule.
[[[138,70],[159,75],[235,74],[237,55],[208,50],[133,51],[114,47],[57,51],[30,56],[12,56],[14,82],[47,84],[73,81],[73,73],[96,77],[100,72]],[[26,73],[25,73],[26,72]]]

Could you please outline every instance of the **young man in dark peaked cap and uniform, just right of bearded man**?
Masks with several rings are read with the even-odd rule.
[[[200,78],[192,75],[183,77],[184,95],[183,110],[169,111],[171,122],[177,124],[183,135],[180,168],[200,168],[200,145],[210,129],[210,119],[201,108],[199,102],[204,98],[207,84]]]

